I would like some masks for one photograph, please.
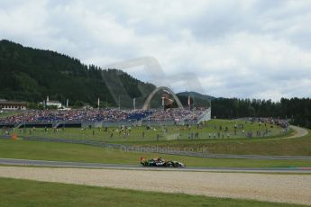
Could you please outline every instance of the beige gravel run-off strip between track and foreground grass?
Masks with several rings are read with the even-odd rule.
[[[0,166],[1,177],[311,204],[311,175]]]

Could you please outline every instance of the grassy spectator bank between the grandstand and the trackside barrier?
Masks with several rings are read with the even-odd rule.
[[[241,121],[240,121],[241,122]],[[235,122],[234,122],[235,123]],[[231,137],[231,138],[209,138],[209,133],[215,132],[205,132],[207,133],[207,138],[200,137],[205,133],[204,131],[216,131],[215,125],[227,126],[229,130],[233,130],[233,122],[224,120],[214,120],[208,122],[207,126],[203,129],[193,129],[191,130],[180,130],[179,127],[168,127],[169,132],[161,132],[162,137],[157,141],[153,138],[156,136],[159,130],[145,130],[143,127],[133,128],[131,130],[130,136],[123,138],[115,135],[113,138],[106,138],[110,136],[109,130],[116,130],[115,128],[108,128],[105,132],[104,129],[72,129],[65,128],[64,130],[59,129],[58,131],[44,129],[23,129],[15,130],[18,136],[23,137],[49,137],[49,138],[64,138],[64,139],[91,139],[100,140],[108,143],[122,143],[131,146],[139,147],[153,147],[153,148],[177,148],[178,150],[191,150],[204,153],[213,154],[236,154],[236,155],[286,155],[286,156],[311,156],[311,133],[309,130],[308,135],[303,138],[295,139],[279,139],[283,137],[288,137],[295,131],[288,131],[286,133],[282,132],[279,127],[274,126],[269,129],[274,130],[274,136],[270,137],[257,137],[257,138],[245,138],[245,137]],[[245,124],[245,123],[244,123]],[[223,127],[224,128],[224,127]],[[264,130],[264,125],[261,124],[251,124],[247,123],[244,129],[247,130]],[[163,129],[162,129],[163,130]],[[182,131],[182,133],[187,134],[188,131],[199,131],[198,139],[168,139],[169,137],[176,135],[176,131]],[[93,135],[94,131],[94,135]],[[145,131],[145,137],[142,138],[142,131]],[[278,134],[279,131],[279,135]],[[4,131],[2,130],[2,133]],[[234,133],[234,132],[233,132]],[[200,135],[201,134],[201,135]],[[271,132],[272,134],[272,132]],[[174,135],[174,136],[175,136]],[[183,135],[182,135],[183,136]],[[181,137],[182,137],[181,136]],[[188,135],[185,135],[188,136]]]

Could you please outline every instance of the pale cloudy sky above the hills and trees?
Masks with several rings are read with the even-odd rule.
[[[310,0],[4,0],[0,38],[101,67],[152,57],[175,92],[311,96]]]

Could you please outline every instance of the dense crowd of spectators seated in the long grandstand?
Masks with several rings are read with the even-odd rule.
[[[203,109],[193,111],[185,109],[118,110],[118,109],[88,109],[88,110],[29,110],[17,115],[0,118],[0,123],[59,121],[139,121],[144,118],[154,121],[185,121],[197,120]]]

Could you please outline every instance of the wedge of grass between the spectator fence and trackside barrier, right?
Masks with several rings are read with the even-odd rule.
[[[152,146],[154,143],[141,142],[138,146]],[[214,154],[234,155],[276,155],[276,156],[311,156],[311,131],[295,139],[215,139],[215,140],[179,140],[160,141],[157,147],[188,148],[195,151],[205,150]]]

